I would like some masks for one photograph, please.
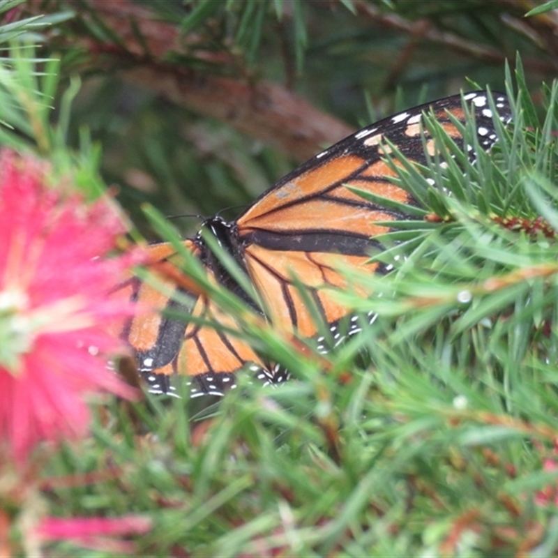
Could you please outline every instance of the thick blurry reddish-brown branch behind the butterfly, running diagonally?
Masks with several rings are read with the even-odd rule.
[[[119,38],[118,45],[93,42],[91,37],[77,39],[96,54],[90,62],[93,67],[119,66],[123,79],[199,114],[226,121],[298,160],[310,158],[354,131],[281,85],[254,82],[246,76],[218,76],[169,62],[169,54],[179,54],[227,63],[227,68],[235,63],[232,54],[203,50],[199,35],[184,36],[176,25],[157,20],[154,13],[130,0],[89,0],[76,3],[75,9],[84,20],[102,22]]]

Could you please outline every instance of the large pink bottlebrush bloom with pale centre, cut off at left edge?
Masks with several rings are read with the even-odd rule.
[[[133,311],[107,293],[132,257],[107,257],[123,224],[110,202],[49,188],[45,163],[0,151],[0,452],[84,435],[84,394],[133,389],[107,369],[108,333]]]

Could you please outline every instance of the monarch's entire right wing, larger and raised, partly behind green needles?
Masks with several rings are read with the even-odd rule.
[[[474,108],[481,147],[490,149],[496,135],[485,91],[467,93],[464,98]],[[506,97],[497,93],[495,103],[499,117],[507,121],[511,113]],[[292,281],[293,273],[311,287],[326,321],[333,324],[347,311],[317,287],[343,287],[344,280],[335,271],[341,266],[382,271],[379,263],[368,263],[372,253],[382,250],[375,237],[389,232],[389,227],[376,223],[412,216],[367,201],[347,186],[414,204],[406,190],[389,181],[396,173],[382,156],[385,140],[389,140],[407,158],[424,164],[421,120],[423,112],[430,109],[446,133],[462,144],[451,120],[453,116],[465,122],[467,117],[460,95],[414,107],[363,128],[319,153],[267,190],[239,218],[246,268],[273,324],[296,329],[305,336],[316,333],[312,315]],[[427,150],[433,152],[432,138],[426,130],[423,133]]]

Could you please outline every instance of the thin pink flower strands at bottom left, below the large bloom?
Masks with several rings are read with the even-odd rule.
[[[40,541],[68,541],[102,552],[132,554],[135,545],[114,537],[142,535],[151,530],[151,520],[142,515],[119,518],[45,518],[36,534]]]

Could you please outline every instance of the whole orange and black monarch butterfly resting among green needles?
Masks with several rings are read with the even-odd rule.
[[[509,121],[511,110],[506,96],[496,93],[494,101],[499,119]],[[296,331],[308,338],[317,333],[312,314],[292,280],[293,273],[308,287],[317,308],[334,330],[347,310],[319,287],[344,287],[345,280],[335,271],[340,266],[389,271],[379,262],[370,263],[370,253],[382,250],[375,237],[389,232],[388,227],[375,223],[405,220],[411,215],[367,201],[346,186],[401,204],[414,204],[407,190],[390,181],[396,173],[382,158],[382,144],[389,140],[407,158],[424,164],[423,137],[427,149],[430,138],[425,130],[421,135],[423,112],[432,110],[446,133],[462,144],[452,121],[453,117],[465,122],[467,112],[462,103],[474,110],[481,148],[490,149],[496,134],[487,93],[475,91],[443,98],[367,126],[322,151],[266,190],[232,223],[220,217],[204,222],[203,227],[246,271],[264,302],[269,322],[282,331]],[[474,158],[472,147],[467,149],[469,157]],[[212,280],[247,297],[213,256],[201,234],[184,241],[184,246],[202,262]],[[149,250],[156,262],[169,261],[175,252],[169,243],[155,244]],[[164,282],[190,295],[192,308],[184,308],[137,278],[124,281],[119,289],[156,308],[178,308],[190,311],[194,317],[211,316],[223,325],[231,323],[232,318],[225,317],[203,294],[189,292],[170,278]],[[134,317],[123,335],[135,350],[137,367],[150,391],[156,393],[172,394],[173,378],[183,373],[191,377],[192,396],[222,395],[227,387],[234,387],[234,373],[247,364],[265,382],[285,379],[279,367],[266,365],[245,342],[209,326],[185,324],[153,312]]]

